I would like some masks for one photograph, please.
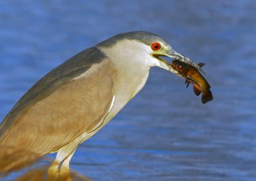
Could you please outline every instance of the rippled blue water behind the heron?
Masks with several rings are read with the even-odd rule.
[[[152,68],[143,90],[77,149],[92,180],[256,180],[256,1],[0,1],[0,118],[40,77],[117,33],[147,30],[196,62],[205,105]],[[13,180],[16,174],[6,179]]]

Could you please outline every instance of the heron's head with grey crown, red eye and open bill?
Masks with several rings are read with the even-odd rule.
[[[127,64],[134,67],[156,66],[180,75],[172,67],[171,63],[163,59],[163,57],[170,57],[172,59],[179,59],[187,65],[191,65],[200,72],[203,72],[196,63],[186,56],[175,52],[162,38],[147,31],[122,33],[96,46],[106,52],[111,59],[125,64],[126,67]]]

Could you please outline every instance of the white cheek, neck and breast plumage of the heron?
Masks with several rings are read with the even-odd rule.
[[[150,55],[150,47],[136,40],[122,40],[100,50],[113,66],[115,104],[111,113],[115,116],[143,88],[156,59]]]

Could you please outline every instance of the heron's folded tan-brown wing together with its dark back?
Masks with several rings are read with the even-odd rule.
[[[15,145],[19,140],[33,151],[46,144],[38,149],[51,152],[102,121],[113,98],[112,87],[108,58],[96,47],[86,49],[20,98],[1,123],[0,142]]]

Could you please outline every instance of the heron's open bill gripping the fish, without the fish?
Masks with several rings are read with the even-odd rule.
[[[190,65],[194,68],[196,68],[196,70],[202,72],[204,74],[204,70],[202,70],[202,68],[200,68],[199,65],[197,65],[195,62],[191,61],[191,59],[187,58],[186,56],[183,56],[182,54],[179,54],[178,52],[175,51],[170,51],[168,53],[164,53],[164,54],[154,54],[153,55],[155,58],[159,59],[159,65],[157,65],[157,67],[161,67],[165,70],[168,70],[170,72],[172,72],[173,74],[177,74],[180,77],[184,77],[183,74],[180,74],[177,70],[175,70],[175,68],[172,66],[171,63],[169,63],[168,61],[166,61],[163,58],[160,58],[161,56],[168,56],[172,59],[178,59],[179,61],[182,61],[184,63],[186,63],[186,65]]]

